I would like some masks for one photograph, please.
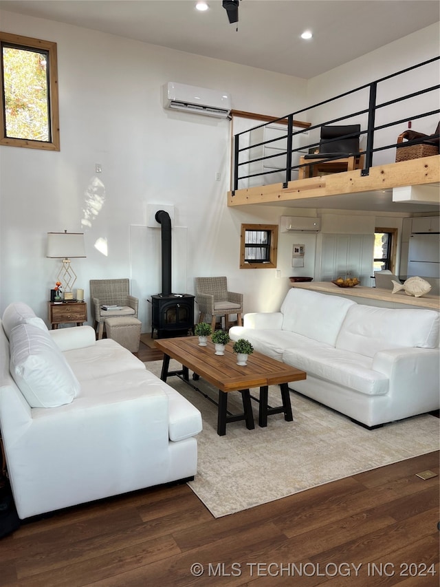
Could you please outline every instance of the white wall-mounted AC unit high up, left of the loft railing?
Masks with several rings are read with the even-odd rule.
[[[216,118],[227,118],[232,108],[230,94],[226,92],[173,81],[163,86],[163,98],[164,108]]]

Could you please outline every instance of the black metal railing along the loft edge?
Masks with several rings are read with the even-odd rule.
[[[313,160],[309,160],[309,162],[303,164],[300,164],[297,161],[294,162],[294,158],[296,160],[299,160],[300,155],[303,155],[304,153],[311,153],[318,148],[318,138],[316,140],[312,140],[311,142],[309,142],[309,134],[311,131],[320,129],[322,125],[331,125],[338,122],[342,122],[343,120],[346,121],[347,119],[351,119],[351,123],[353,123],[353,120],[359,122],[362,116],[366,118],[367,122],[366,128],[360,131],[360,135],[364,135],[366,137],[366,145],[365,148],[360,150],[358,154],[360,156],[364,156],[364,164],[361,170],[361,174],[369,175],[370,168],[373,167],[374,153],[379,153],[380,151],[387,150],[391,151],[392,149],[397,148],[397,142],[395,141],[391,143],[385,142],[385,144],[383,144],[383,140],[381,140],[380,138],[381,131],[385,131],[389,127],[406,124],[410,121],[412,122],[413,120],[419,120],[421,118],[433,116],[434,114],[439,114],[440,112],[440,108],[434,108],[430,109],[429,111],[423,112],[417,110],[411,111],[408,112],[408,116],[404,116],[404,118],[391,120],[391,122],[387,120],[387,122],[383,122],[382,124],[376,125],[378,113],[380,114],[381,111],[386,111],[387,108],[389,109],[393,107],[393,105],[401,103],[404,100],[413,100],[413,98],[419,98],[420,96],[430,94],[430,92],[437,92],[435,100],[431,99],[430,103],[439,103],[439,84],[423,87],[421,89],[418,89],[416,92],[410,92],[408,94],[400,95],[397,98],[394,98],[393,100],[386,100],[384,102],[378,103],[378,94],[380,93],[380,89],[384,87],[384,85],[388,81],[395,82],[397,84],[395,87],[397,88],[400,87],[399,81],[402,82],[402,85],[405,85],[406,83],[408,83],[408,81],[404,80],[404,76],[406,76],[410,72],[413,72],[414,70],[419,70],[421,67],[427,67],[435,61],[439,61],[439,59],[440,56],[428,59],[428,61],[423,61],[422,63],[418,63],[417,65],[412,65],[411,67],[407,67],[405,70],[401,70],[394,74],[385,76],[371,83],[349,90],[348,92],[344,92],[343,94],[339,94],[338,96],[335,96],[333,98],[322,100],[321,102],[316,103],[313,106],[297,110],[295,112],[292,112],[292,114],[283,116],[282,118],[272,120],[271,122],[266,122],[263,125],[258,125],[250,130],[236,134],[234,136],[234,175],[232,193],[239,189],[239,182],[241,180],[248,180],[248,185],[250,180],[255,180],[254,185],[262,185],[263,177],[270,177],[274,174],[277,174],[277,177],[279,177],[281,173],[283,174],[283,188],[287,188],[287,184],[290,181],[292,181],[292,171],[298,170],[300,169],[300,167],[305,167],[307,165],[313,164]],[[399,76],[403,77],[401,77],[399,80]],[[428,75],[426,77],[428,77]],[[358,94],[358,96],[355,96],[355,94]],[[319,123],[310,124],[306,128],[301,127],[300,129],[298,129],[298,126],[295,125],[295,120],[298,120],[301,115],[304,116],[306,112],[309,112],[309,118],[314,118],[314,111],[322,109],[322,107],[325,107],[327,105],[331,105],[331,107],[334,108],[337,100],[342,100],[343,98],[347,97],[353,98],[354,101],[360,103],[361,108],[354,112],[341,114],[341,116],[338,116],[337,118],[332,118],[331,120],[320,120]],[[414,107],[414,104],[415,103],[412,102],[411,106]],[[418,106],[416,105],[416,108],[417,107]],[[264,129],[265,127],[274,125],[277,122],[282,123],[283,125],[286,125],[287,122],[286,134],[283,134],[282,136],[277,136],[276,138],[270,138],[268,140],[259,140],[257,142],[252,143],[252,133],[257,131],[258,129]],[[434,125],[434,128],[435,126],[437,126],[437,123],[436,125]],[[347,137],[348,136],[353,135],[347,135]],[[438,135],[434,135],[434,137],[438,138]],[[243,142],[246,143],[245,146],[242,146]],[[280,142],[283,142],[283,149],[278,149],[276,153],[273,153],[271,155],[254,156],[255,150],[259,149],[259,147],[261,147],[261,150],[263,150],[264,147],[267,145],[272,145],[272,147],[274,145],[279,146]],[[411,140],[405,142],[405,146],[414,145],[418,142],[421,141]],[[282,167],[278,167],[277,165],[275,169],[264,169],[263,171],[258,172],[254,172],[255,170],[251,169],[251,171],[253,171],[252,173],[240,174],[241,171],[243,171],[243,169],[245,171],[249,171],[249,169],[246,169],[246,166],[252,168],[252,166],[255,167],[255,164],[258,164],[259,162],[261,162],[262,164],[264,164],[264,162],[270,163],[271,160],[275,160],[276,158],[278,158],[278,160],[279,158],[285,158],[285,165],[283,165]],[[331,161],[336,159],[338,159],[337,156],[329,156],[329,158],[320,159],[320,162]],[[390,160],[389,162],[392,162],[394,160],[395,158],[393,158],[393,160]],[[257,183],[259,181],[259,178],[261,178],[261,183]],[[248,185],[246,185],[246,187],[248,187]]]

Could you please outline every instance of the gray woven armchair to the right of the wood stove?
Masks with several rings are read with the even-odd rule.
[[[215,330],[217,317],[225,317],[228,329],[229,314],[236,314],[237,325],[241,326],[243,312],[243,294],[228,291],[226,277],[195,277],[195,301],[199,305],[199,322],[211,317],[212,331]]]

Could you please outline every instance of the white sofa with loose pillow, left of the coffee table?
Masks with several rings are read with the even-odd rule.
[[[47,330],[23,303],[0,328],[0,430],[21,519],[197,472],[201,414],[94,329]]]

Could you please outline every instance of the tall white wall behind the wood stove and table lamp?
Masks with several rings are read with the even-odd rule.
[[[277,224],[281,211],[228,209],[230,122],[164,110],[161,87],[226,90],[235,109],[283,116],[303,105],[306,81],[18,14],[0,19],[5,32],[58,43],[61,114],[60,152],[0,147],[0,311],[22,300],[45,317],[58,273],[45,258],[46,233],[83,229],[87,259],[72,261],[75,286],[88,299],[89,279],[130,277],[148,330],[146,299],[161,285],[160,229],[146,228],[151,203],[175,208],[173,263],[183,265],[173,288],[191,293],[195,276],[227,275],[245,310],[279,305],[287,283],[274,270],[240,271],[239,235],[241,222]],[[96,196],[103,205],[91,216]]]

